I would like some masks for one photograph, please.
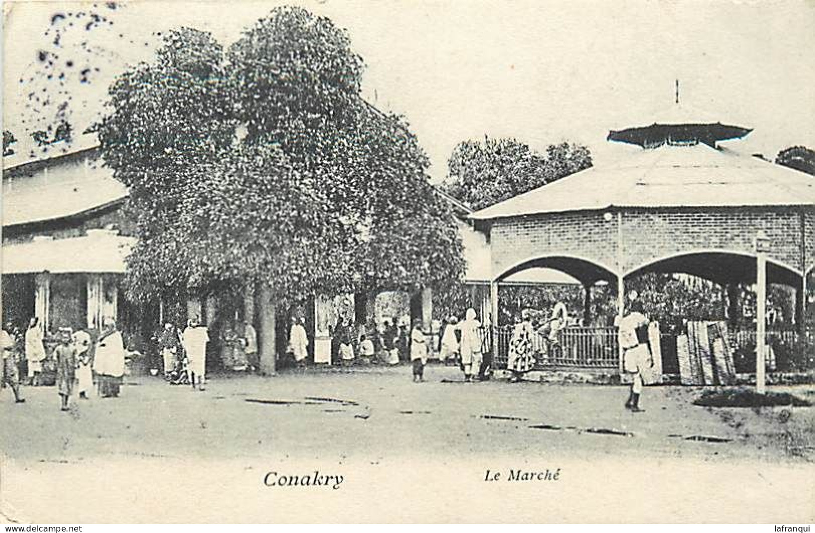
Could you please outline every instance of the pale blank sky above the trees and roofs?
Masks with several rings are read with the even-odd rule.
[[[485,134],[540,150],[569,140],[611,161],[639,148],[607,143],[608,131],[669,112],[676,79],[683,104],[754,128],[730,148],[815,148],[812,0],[5,2],[3,128],[20,138],[42,109],[25,107],[29,95],[52,95],[53,107],[59,90],[72,120],[90,124],[117,74],[152,58],[156,33],[189,26],[228,46],[281,4],[347,31],[366,64],[363,95],[407,118],[434,181],[456,143]],[[91,13],[104,20],[87,28]],[[64,86],[46,80],[42,51],[59,58]]]

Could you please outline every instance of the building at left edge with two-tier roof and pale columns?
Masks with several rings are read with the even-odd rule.
[[[3,158],[2,316],[24,329],[33,316],[46,332],[99,328],[117,319],[128,333],[143,313],[122,297],[134,244],[122,212],[124,185],[86,135],[52,144],[43,156]]]

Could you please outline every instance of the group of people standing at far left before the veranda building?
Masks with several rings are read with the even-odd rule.
[[[69,327],[58,328],[51,357],[47,355],[45,338],[36,317],[29,322],[24,339],[21,337],[15,334],[11,324],[7,324],[0,334],[2,383],[14,392],[16,403],[25,402],[20,395],[19,368],[23,361],[27,363],[31,385],[39,383],[46,360],[53,363],[62,411],[70,408],[74,391],[78,392],[79,398],[89,399],[94,374],[99,396],[116,398],[119,395],[125,373],[125,346],[113,319],[104,319],[98,334],[81,328],[76,331]]]

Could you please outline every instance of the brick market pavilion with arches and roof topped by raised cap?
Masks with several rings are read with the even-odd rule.
[[[608,140],[641,147],[615,164],[470,215],[490,243],[492,314],[497,284],[534,266],[566,272],[587,295],[598,282],[616,287],[618,314],[627,280],[645,272],[696,275],[734,293],[756,283],[759,239],[768,283],[795,291],[792,333],[811,342],[815,180],[722,145],[750,131],[677,103],[653,124],[610,131]]]

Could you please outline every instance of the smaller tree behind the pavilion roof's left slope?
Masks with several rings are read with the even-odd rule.
[[[588,148],[550,144],[545,153],[518,139],[464,141],[453,149],[443,187],[473,209],[483,209],[592,165]]]

